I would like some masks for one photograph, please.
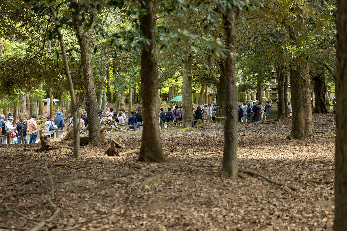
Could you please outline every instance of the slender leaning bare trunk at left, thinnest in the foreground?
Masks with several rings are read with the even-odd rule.
[[[70,99],[71,99],[70,107],[72,108],[71,112],[72,112],[73,121],[74,121],[74,124],[75,124],[75,129],[73,129],[74,157],[77,158],[77,159],[81,159],[82,157],[81,157],[81,149],[80,149],[80,146],[79,146],[80,139],[79,139],[79,129],[78,129],[79,128],[78,124],[79,124],[80,117],[77,116],[78,106],[76,105],[76,102],[75,102],[74,85],[73,85],[73,82],[72,82],[70,69],[69,69],[69,63],[68,63],[67,56],[66,56],[63,35],[61,33],[61,30],[60,30],[60,27],[59,27],[59,23],[58,23],[58,18],[56,16],[56,12],[54,11],[54,9],[52,9],[52,15],[53,15],[54,23],[56,24],[57,33],[59,35],[58,38],[59,38],[59,45],[60,45],[61,54],[62,54],[63,65],[64,65],[64,74],[65,74],[67,82],[68,82],[68,87],[69,87],[69,92],[70,92]],[[51,98],[53,98],[52,90],[50,91],[50,95],[51,95]],[[78,99],[76,99],[76,100],[78,100]],[[50,108],[53,108],[53,100],[52,99],[51,99],[51,107]],[[52,112],[53,110],[50,110],[50,111]],[[89,120],[88,120],[88,122],[89,122]],[[88,125],[89,125],[89,123],[88,123]]]

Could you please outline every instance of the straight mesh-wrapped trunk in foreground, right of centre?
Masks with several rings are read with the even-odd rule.
[[[224,151],[222,176],[235,178],[237,174],[237,120],[235,102],[236,95],[236,52],[237,39],[235,20],[239,14],[239,9],[234,8],[228,14],[223,14],[225,45],[228,48],[227,59],[225,60],[224,78],[224,101],[226,120],[224,125]]]

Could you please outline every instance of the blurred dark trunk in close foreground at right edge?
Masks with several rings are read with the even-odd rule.
[[[335,231],[347,230],[347,5],[337,0]]]

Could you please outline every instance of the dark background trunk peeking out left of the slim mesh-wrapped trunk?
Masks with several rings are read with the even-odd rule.
[[[224,101],[224,94],[225,94],[225,65],[224,62],[222,60],[219,60],[218,62],[219,64],[219,70],[220,70],[220,74],[219,74],[219,85],[216,86],[217,87],[217,98],[216,98],[216,105],[217,106],[223,106],[225,105],[225,101]],[[222,121],[222,118],[218,118],[218,117],[225,117],[225,109],[226,107],[217,107],[217,111],[216,111],[216,119],[215,121]]]

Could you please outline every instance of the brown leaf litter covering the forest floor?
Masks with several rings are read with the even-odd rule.
[[[313,122],[316,135],[294,141],[291,118],[238,127],[239,169],[296,190],[243,172],[221,178],[221,123],[161,130],[164,163],[104,154],[119,134],[139,149],[142,131],[107,134],[104,147],[82,147],[82,160],[39,143],[0,145],[0,230],[333,230],[335,116]]]

